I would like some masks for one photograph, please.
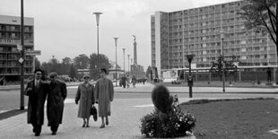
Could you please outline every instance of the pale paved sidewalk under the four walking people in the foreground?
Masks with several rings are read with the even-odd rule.
[[[77,118],[77,105],[74,100],[67,100],[65,104],[63,124],[59,126],[57,135],[51,135],[47,126],[47,118],[42,126],[39,137],[31,132],[32,127],[27,125],[27,113],[10,117],[0,121],[0,138],[94,138],[94,139],[141,139],[144,136],[140,132],[140,118],[152,112],[152,100],[150,99],[117,99],[112,102],[109,126],[100,129],[101,119],[97,122],[90,119],[91,127],[82,127],[83,119]],[[186,101],[181,99],[181,102]],[[183,137],[195,139],[195,136]]]

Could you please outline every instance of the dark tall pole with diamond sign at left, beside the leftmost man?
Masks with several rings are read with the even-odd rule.
[[[21,107],[20,109],[24,109],[24,57],[25,57],[25,49],[24,49],[24,9],[23,9],[23,0],[21,4],[21,40],[22,40],[22,53],[21,53]]]

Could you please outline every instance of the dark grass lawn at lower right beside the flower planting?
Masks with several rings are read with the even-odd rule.
[[[201,100],[181,104],[196,117],[198,139],[276,139],[278,100]]]

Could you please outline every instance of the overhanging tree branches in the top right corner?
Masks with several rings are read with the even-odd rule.
[[[277,0],[247,0],[239,14],[245,20],[247,30],[256,30],[269,34],[276,45],[278,56],[278,1]]]

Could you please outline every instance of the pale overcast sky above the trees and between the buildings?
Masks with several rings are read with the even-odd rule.
[[[34,18],[34,47],[41,50],[39,61],[97,53],[97,23],[100,12],[99,51],[123,67],[124,56],[133,58],[137,42],[137,64],[151,65],[151,15],[156,11],[174,12],[237,0],[25,0],[24,16]],[[20,16],[21,0],[0,0],[0,14]],[[129,62],[131,64],[131,62]]]

